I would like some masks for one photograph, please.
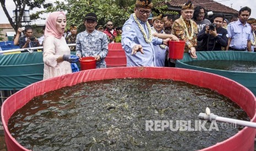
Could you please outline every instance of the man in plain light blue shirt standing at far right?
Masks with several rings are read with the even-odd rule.
[[[228,44],[226,50],[251,51],[250,34],[252,28],[247,24],[251,9],[243,7],[239,10],[239,20],[227,26]]]

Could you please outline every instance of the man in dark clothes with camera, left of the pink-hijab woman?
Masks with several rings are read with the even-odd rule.
[[[37,38],[32,37],[32,27],[31,26],[26,26],[24,30],[25,36],[19,38],[19,47],[20,48],[32,48],[32,47],[39,47],[39,41]],[[37,50],[34,50],[37,51]],[[28,52],[28,51],[23,51],[23,52]]]

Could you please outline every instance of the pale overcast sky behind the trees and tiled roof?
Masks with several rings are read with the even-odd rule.
[[[53,2],[55,0],[47,0],[47,2]],[[232,4],[232,8],[233,9],[236,9],[236,10],[239,10],[241,7],[250,7],[252,9],[252,14],[250,15],[250,17],[252,18],[256,18],[256,3],[255,3],[255,0],[215,0],[216,2],[219,2],[221,4],[224,4],[224,5],[227,5],[228,7],[231,7],[231,4]],[[192,0],[193,2],[193,0]],[[6,7],[7,7],[7,10],[9,12],[9,15],[11,17],[13,17],[13,10],[15,9],[15,5],[14,5],[14,2],[13,0],[6,0]],[[254,9],[253,9],[254,8]],[[36,11],[36,10],[34,10]],[[33,11],[30,11],[30,14],[32,13]],[[9,21],[6,17],[6,15],[4,14],[3,12],[3,8],[0,7],[0,14],[1,14],[1,19],[0,19],[0,24],[8,24]],[[43,17],[46,17],[46,15],[44,15]],[[45,24],[45,21],[37,21],[36,22],[37,24]]]

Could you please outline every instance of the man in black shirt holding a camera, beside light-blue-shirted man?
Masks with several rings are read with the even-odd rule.
[[[197,40],[203,40],[199,51],[220,51],[221,47],[227,46],[227,30],[222,27],[224,19],[224,14],[216,14],[213,16],[213,24],[201,30],[197,36]]]

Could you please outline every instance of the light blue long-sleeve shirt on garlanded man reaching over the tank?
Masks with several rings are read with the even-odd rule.
[[[149,38],[149,30],[146,26],[146,22],[142,22],[140,20],[139,22]],[[147,43],[139,29],[139,26],[135,22],[133,15],[130,15],[130,18],[124,23],[122,31],[122,47],[126,51],[127,67],[156,66],[154,45],[161,44],[162,39],[152,37],[152,42]],[[144,54],[138,52],[137,54],[132,55],[132,49],[137,44],[142,46]]]

